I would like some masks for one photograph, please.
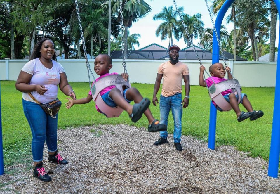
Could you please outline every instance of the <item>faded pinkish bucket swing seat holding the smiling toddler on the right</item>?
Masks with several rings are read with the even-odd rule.
[[[214,83],[208,88],[211,100],[214,101],[216,105],[222,109],[222,111],[230,111],[232,109],[230,103],[227,102],[221,94],[223,91],[228,89],[232,89],[232,92],[238,95],[239,104],[241,101],[241,87],[237,79],[227,79],[217,84]]]

